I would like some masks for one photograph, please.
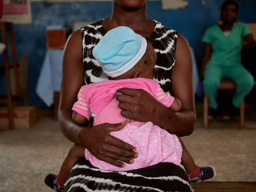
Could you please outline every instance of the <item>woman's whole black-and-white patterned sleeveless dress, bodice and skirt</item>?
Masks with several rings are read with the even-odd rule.
[[[171,69],[175,65],[175,48],[178,33],[156,22],[153,34],[148,38],[157,53],[154,79],[166,91],[171,90]],[[85,84],[107,79],[92,49],[107,31],[101,21],[81,28]],[[114,172],[93,167],[86,159],[81,159],[71,170],[65,191],[193,191],[188,176],[181,166],[159,163],[143,169]]]

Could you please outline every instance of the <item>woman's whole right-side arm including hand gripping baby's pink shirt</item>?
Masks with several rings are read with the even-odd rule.
[[[176,63],[171,72],[172,95],[180,99],[181,110],[174,112],[143,90],[123,88],[118,92],[122,115],[136,121],[151,121],[178,136],[194,131],[196,121],[192,59],[187,40],[179,35],[176,49]]]

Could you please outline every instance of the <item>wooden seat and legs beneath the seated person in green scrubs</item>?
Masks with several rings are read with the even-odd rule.
[[[222,79],[222,81],[220,82],[220,85],[218,87],[218,90],[233,90],[236,89],[236,83],[232,80],[229,79]],[[208,127],[208,113],[209,113],[209,102],[208,99],[206,97],[206,95],[204,94],[204,107],[203,107],[203,120],[204,120],[204,127],[207,128]],[[244,127],[244,99],[241,102],[241,105],[239,107],[239,112],[240,112],[240,128],[242,129]]]

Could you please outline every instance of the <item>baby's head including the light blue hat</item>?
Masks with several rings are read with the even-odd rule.
[[[110,79],[153,78],[156,52],[151,43],[129,27],[109,30],[92,54]]]

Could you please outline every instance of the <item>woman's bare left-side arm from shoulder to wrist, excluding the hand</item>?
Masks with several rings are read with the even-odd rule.
[[[76,31],[68,38],[63,53],[62,81],[58,113],[62,133],[70,141],[78,143],[79,145],[82,144],[79,141],[82,127],[73,123],[71,119],[71,108],[77,101],[77,93],[79,89],[84,84],[82,73],[84,67],[82,65],[81,50],[81,34],[79,34],[79,31]]]

